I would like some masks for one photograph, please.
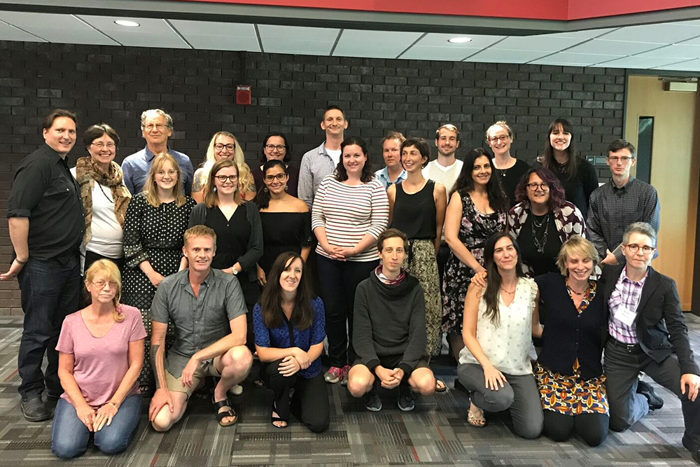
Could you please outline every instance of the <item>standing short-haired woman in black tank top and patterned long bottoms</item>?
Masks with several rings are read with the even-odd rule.
[[[389,186],[389,227],[404,232],[409,239],[405,269],[421,284],[426,301],[428,358],[437,351],[442,322],[440,276],[435,253],[440,248],[447,193],[444,185],[423,177],[422,169],[430,161],[430,146],[425,139],[410,138],[401,144],[401,163],[407,178]],[[435,390],[445,390],[437,380]]]

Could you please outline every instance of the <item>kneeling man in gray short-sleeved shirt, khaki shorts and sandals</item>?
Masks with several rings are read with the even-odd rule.
[[[238,416],[228,390],[248,375],[253,356],[246,348],[246,302],[235,276],[211,269],[216,253],[214,230],[195,225],[185,232],[183,254],[189,267],[162,280],[151,305],[151,364],[156,390],[148,420],[168,431],[185,413],[190,395],[204,377],[218,377],[214,410],[221,426]],[[176,340],[165,358],[168,320]]]

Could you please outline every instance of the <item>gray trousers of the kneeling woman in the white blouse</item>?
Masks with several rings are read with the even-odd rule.
[[[469,398],[479,409],[488,412],[510,411],[513,431],[523,438],[537,438],[542,433],[544,415],[540,391],[533,375],[506,375],[505,386],[498,391],[486,388],[484,369],[478,363],[458,365],[459,382],[469,391]]]

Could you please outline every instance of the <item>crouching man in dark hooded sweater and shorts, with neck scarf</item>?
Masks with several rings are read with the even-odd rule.
[[[435,377],[423,358],[426,349],[426,309],[418,279],[401,267],[408,239],[400,230],[379,235],[381,265],[360,282],[355,295],[353,346],[357,359],[349,372],[348,389],[365,395],[367,410],[381,410],[376,380],[386,389],[399,387],[398,408],[415,407],[413,391],[430,396]]]

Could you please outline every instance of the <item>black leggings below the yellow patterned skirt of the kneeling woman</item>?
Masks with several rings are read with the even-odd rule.
[[[545,436],[566,441],[573,431],[589,446],[601,445],[608,438],[610,417],[607,414],[565,415],[545,410]]]

